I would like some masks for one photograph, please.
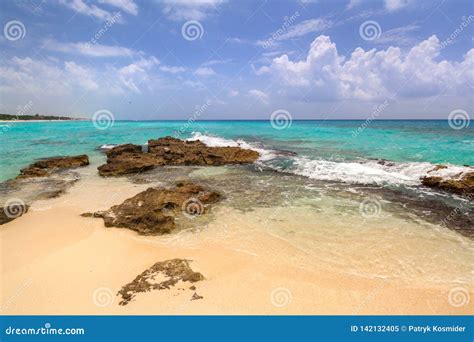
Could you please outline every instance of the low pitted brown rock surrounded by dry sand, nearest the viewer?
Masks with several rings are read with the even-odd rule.
[[[175,286],[179,281],[195,283],[204,280],[199,272],[194,272],[189,266],[191,260],[171,259],[160,261],[139,274],[131,283],[126,284],[117,293],[122,297],[120,305],[127,305],[137,293],[152,290],[165,290]],[[161,281],[157,281],[157,279]],[[197,295],[194,293],[193,297]],[[201,299],[201,296],[198,296]]]

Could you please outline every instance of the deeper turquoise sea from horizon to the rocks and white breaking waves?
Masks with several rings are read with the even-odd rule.
[[[295,152],[296,156],[280,153],[276,158],[269,152],[264,163],[323,180],[411,183],[429,164],[474,165],[473,127],[457,130],[447,121],[434,120],[373,121],[365,128],[363,124],[293,121],[277,129],[268,121],[115,121],[98,129],[92,121],[2,123],[0,180],[15,177],[39,158],[86,153],[94,160],[103,158],[100,146],[146,144],[167,135]],[[380,159],[396,165],[389,169],[374,162]]]

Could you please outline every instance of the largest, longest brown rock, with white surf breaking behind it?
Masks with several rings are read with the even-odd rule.
[[[148,151],[139,145],[119,145],[107,151],[107,164],[99,166],[101,176],[139,173],[163,165],[211,165],[253,163],[259,153],[240,147],[210,147],[203,142],[172,137],[148,141]]]

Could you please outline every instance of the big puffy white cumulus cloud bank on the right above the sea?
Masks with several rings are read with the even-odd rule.
[[[439,39],[431,36],[407,54],[399,47],[359,47],[345,58],[328,36],[321,35],[311,43],[306,59],[292,61],[282,55],[258,74],[271,74],[285,86],[284,92],[306,100],[428,97],[447,88],[456,94],[470,90],[474,49],[461,62],[439,61],[440,49]]]

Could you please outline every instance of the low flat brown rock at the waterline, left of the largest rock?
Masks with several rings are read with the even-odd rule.
[[[38,160],[30,166],[20,170],[20,175],[18,175],[17,178],[46,177],[49,176],[52,171],[73,169],[86,165],[89,165],[89,157],[85,154],[78,156],[46,158]]]

